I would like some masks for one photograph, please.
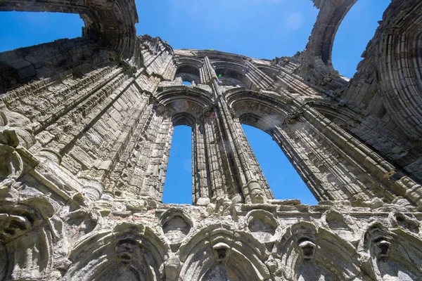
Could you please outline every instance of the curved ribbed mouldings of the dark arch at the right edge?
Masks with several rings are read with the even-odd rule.
[[[407,17],[385,15],[379,31],[378,74],[385,109],[414,139],[422,138],[422,4],[405,1],[397,10]],[[388,18],[387,18],[388,17]],[[381,32],[380,32],[381,33]]]

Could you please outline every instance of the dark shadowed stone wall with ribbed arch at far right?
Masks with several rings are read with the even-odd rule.
[[[418,1],[392,1],[357,73],[338,95],[353,112],[347,129],[417,183],[422,182],[420,13]]]

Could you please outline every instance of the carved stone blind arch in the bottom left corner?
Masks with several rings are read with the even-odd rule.
[[[12,196],[10,196],[11,198]],[[48,221],[54,210],[41,197],[0,202],[0,280],[46,280],[53,263]]]

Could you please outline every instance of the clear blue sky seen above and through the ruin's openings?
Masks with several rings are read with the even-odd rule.
[[[358,0],[343,20],[333,46],[333,65],[352,77],[390,0]],[[218,51],[272,59],[302,51],[318,10],[311,0],[136,1],[138,34],[167,40],[174,48]],[[1,12],[0,51],[79,37],[79,15]],[[243,126],[276,199],[315,204],[297,173],[266,133]],[[170,152],[164,202],[191,203],[191,129],[177,126]]]

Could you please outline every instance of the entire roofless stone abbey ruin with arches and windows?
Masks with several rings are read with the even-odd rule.
[[[133,0],[0,0],[85,22],[0,53],[0,280],[422,280],[422,1],[392,0],[347,81],[356,1],[314,0],[305,51],[258,60],[136,36]],[[319,204],[274,200],[241,124]],[[178,125],[192,205],[161,202]]]

